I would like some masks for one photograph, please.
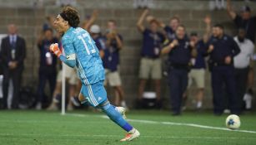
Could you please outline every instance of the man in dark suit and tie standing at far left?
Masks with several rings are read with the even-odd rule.
[[[3,61],[3,109],[7,109],[9,80],[13,80],[12,109],[18,109],[19,89],[26,56],[26,42],[17,34],[15,24],[8,25],[8,36],[3,38],[0,57]]]

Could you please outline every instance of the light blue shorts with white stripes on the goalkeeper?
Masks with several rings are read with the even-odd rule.
[[[82,85],[80,93],[93,106],[103,103],[107,99],[107,92],[104,88],[103,81],[92,85]]]

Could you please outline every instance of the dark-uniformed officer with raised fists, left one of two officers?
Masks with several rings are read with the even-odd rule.
[[[168,83],[170,85],[173,115],[181,113],[183,93],[188,85],[189,61],[192,57],[197,56],[194,47],[194,42],[189,41],[186,36],[185,27],[180,25],[176,30],[176,38],[161,51],[162,55],[168,54],[170,63]]]

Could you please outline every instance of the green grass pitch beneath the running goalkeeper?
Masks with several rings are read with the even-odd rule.
[[[138,128],[141,136],[133,142],[120,143],[125,132],[102,113],[75,111],[61,115],[59,112],[1,110],[0,144],[256,144],[255,114],[240,116],[242,125],[238,131],[225,130],[226,117],[192,112],[173,117],[167,111],[131,111],[129,121]]]

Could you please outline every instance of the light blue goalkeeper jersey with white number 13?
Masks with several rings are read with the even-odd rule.
[[[84,85],[105,80],[103,61],[93,38],[81,27],[70,27],[62,39],[66,56],[60,60],[70,67],[77,67],[78,76]]]

